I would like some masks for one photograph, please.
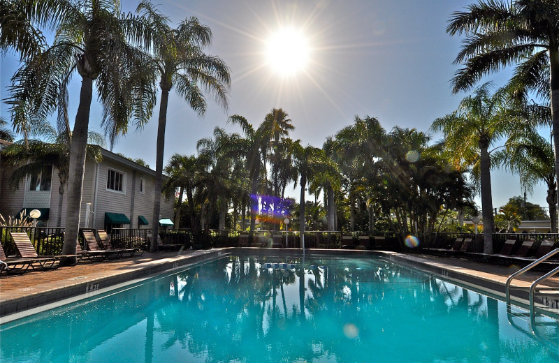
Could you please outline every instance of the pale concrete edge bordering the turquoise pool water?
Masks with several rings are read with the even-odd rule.
[[[96,294],[103,293],[107,290],[114,290],[121,286],[136,283],[141,279],[148,279],[164,272],[173,272],[175,269],[184,269],[190,265],[207,262],[215,258],[221,258],[231,254],[256,255],[256,256],[284,256],[284,257],[300,257],[300,249],[259,249],[259,248],[224,248],[211,249],[205,251],[191,251],[186,255],[176,255],[173,257],[142,262],[122,269],[122,271],[112,270],[107,276],[85,276],[87,279],[79,281],[77,278],[66,279],[61,281],[64,283],[59,288],[43,290],[38,292],[29,292],[29,295],[17,297],[15,299],[0,300],[0,323],[6,323],[8,316],[17,314],[17,316],[26,316],[36,313],[36,308],[47,304],[59,303],[66,304],[70,302],[68,299],[85,299]],[[468,270],[463,267],[449,265],[444,262],[428,261],[418,255],[407,255],[390,251],[363,251],[363,250],[328,250],[328,249],[312,249],[307,250],[308,257],[331,256],[331,257],[368,257],[382,256],[392,262],[400,263],[407,267],[419,269],[429,274],[447,279],[453,283],[479,290],[485,295],[504,299],[504,283],[498,279],[491,279],[481,276],[479,272],[476,274],[474,270]],[[92,290],[88,291],[88,286]],[[513,290],[513,299],[516,304],[526,306],[528,301],[528,292],[525,290]],[[554,318],[559,318],[559,309],[546,311],[551,313]],[[13,320],[9,318],[9,320]]]

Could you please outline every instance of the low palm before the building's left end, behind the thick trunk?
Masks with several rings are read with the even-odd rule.
[[[47,124],[43,126],[41,134],[46,141],[28,140],[15,142],[6,147],[2,154],[8,157],[8,162],[19,165],[10,176],[10,186],[16,188],[20,182],[27,177],[40,175],[45,166],[57,168],[60,186],[58,189],[58,214],[57,227],[61,225],[62,204],[64,202],[64,190],[68,183],[69,159],[70,159],[70,133],[69,131],[57,132],[55,128]],[[87,157],[101,162],[101,149],[105,145],[102,135],[89,131],[87,145]]]

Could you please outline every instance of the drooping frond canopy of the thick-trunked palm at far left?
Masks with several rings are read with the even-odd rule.
[[[39,1],[40,2],[40,1]],[[68,84],[75,72],[95,80],[103,106],[106,135],[112,145],[128,131],[129,120],[141,126],[155,104],[155,79],[145,71],[147,57],[134,45],[147,45],[150,29],[143,17],[121,14],[119,1],[64,1],[51,47],[32,57],[12,79],[10,112],[15,131],[59,110],[59,124],[69,124]]]

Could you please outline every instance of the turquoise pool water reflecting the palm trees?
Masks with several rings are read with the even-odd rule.
[[[559,361],[557,320],[532,334],[502,302],[385,260],[289,264],[222,258],[3,324],[0,362]]]

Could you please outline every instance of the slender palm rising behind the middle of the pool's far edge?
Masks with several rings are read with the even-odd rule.
[[[335,174],[336,167],[329,158],[326,158],[324,150],[311,145],[303,147],[299,142],[293,145],[293,165],[300,177],[299,232],[300,246],[303,248],[303,241],[305,239],[305,189],[307,188],[307,183],[324,175]]]

